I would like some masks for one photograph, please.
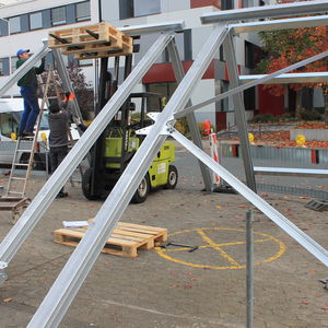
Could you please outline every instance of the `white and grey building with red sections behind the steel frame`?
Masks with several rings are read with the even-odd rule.
[[[8,0],[11,1],[11,0]],[[176,43],[185,71],[192,65],[204,39],[212,31],[211,25],[201,25],[200,15],[206,12],[265,5],[274,0],[12,0],[11,4],[0,7],[0,85],[15,70],[19,48],[36,51],[43,46],[49,31],[106,21],[114,26],[143,25],[162,22],[185,21],[186,28],[176,34]],[[1,0],[0,0],[1,5]],[[134,55],[133,63],[147,52],[156,34],[142,35],[140,51]],[[245,34],[235,37],[236,60],[242,74],[253,72],[259,57],[259,40],[256,35]],[[72,58],[66,58],[67,61]],[[82,60],[86,80],[96,86],[98,79],[96,60]],[[152,66],[136,91],[159,92],[167,99],[176,89],[176,82],[167,52],[163,52]],[[225,58],[218,49],[202,80],[192,93],[194,104],[213,97],[229,89]],[[19,96],[19,89],[12,87],[7,96]],[[245,92],[247,117],[267,106],[268,95],[260,87]],[[274,110],[283,110],[283,98],[274,98]],[[272,101],[271,101],[272,103]],[[265,104],[265,105],[263,105]],[[267,108],[267,107],[266,107]],[[278,108],[278,109],[277,109]],[[234,125],[233,103],[231,99],[213,103],[198,110],[197,120],[210,119],[218,130]]]

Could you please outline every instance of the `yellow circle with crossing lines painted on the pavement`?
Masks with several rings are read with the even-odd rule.
[[[221,257],[223,257],[225,260],[227,260],[231,263],[231,266],[221,267],[221,266],[208,266],[208,265],[192,263],[192,262],[187,262],[187,261],[174,258],[174,257],[168,255],[168,254],[172,254],[172,253],[189,250],[189,248],[187,248],[187,247],[175,247],[175,248],[168,248],[168,249],[165,249],[165,248],[162,248],[162,247],[156,247],[155,249],[156,249],[156,251],[160,256],[162,256],[163,258],[165,258],[167,260],[171,260],[171,261],[179,263],[179,265],[194,267],[194,268],[202,268],[202,269],[208,268],[208,269],[216,269],[216,270],[245,269],[245,267],[246,267],[245,265],[238,263],[232,256],[229,255],[227,251],[223,250],[222,247],[235,246],[235,245],[245,245],[246,242],[216,243],[208,236],[207,231],[233,231],[233,232],[241,232],[241,233],[245,234],[245,231],[242,230],[242,229],[200,227],[200,229],[190,229],[190,230],[178,231],[178,232],[175,232],[173,234],[169,234],[168,236],[172,237],[172,236],[176,236],[176,235],[179,235],[179,234],[196,233],[207,243],[207,245],[200,245],[198,247],[199,249],[210,248],[210,249],[216,250]],[[278,238],[276,238],[273,236],[263,234],[263,233],[254,232],[254,243],[267,243],[267,242],[270,242],[270,241],[273,241],[274,243],[278,244],[279,250],[273,256],[271,256],[271,257],[269,257],[269,258],[267,258],[262,261],[254,262],[255,266],[258,266],[260,263],[271,262],[271,261],[278,259],[280,256],[282,256],[284,254],[285,245],[281,241],[279,241]]]

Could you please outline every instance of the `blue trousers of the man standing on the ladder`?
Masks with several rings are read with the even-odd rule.
[[[24,98],[24,112],[20,122],[20,133],[33,131],[35,121],[39,113],[36,87],[21,86],[21,95]]]

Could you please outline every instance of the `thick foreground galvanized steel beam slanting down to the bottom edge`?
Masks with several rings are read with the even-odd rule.
[[[121,218],[153,157],[164,143],[166,134],[161,136],[163,129],[165,133],[165,126],[167,121],[172,120],[174,112],[187,104],[194,86],[201,79],[216,49],[223,43],[226,30],[225,26],[216,26],[211,33],[185,79],[179,83],[164,110],[159,115],[159,120],[150,129],[150,133],[98,211],[94,226],[86,232],[73,251],[27,327],[42,328],[59,325],[101,253],[105,241]],[[127,80],[129,79],[130,75]],[[101,115],[102,113],[98,116]],[[84,136],[85,133],[82,138]]]

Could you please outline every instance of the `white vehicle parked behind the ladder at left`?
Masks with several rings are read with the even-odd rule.
[[[42,103],[42,99],[39,99]],[[14,156],[16,140],[12,139],[12,133],[17,136],[21,116],[23,114],[23,98],[0,98],[0,164],[11,165]],[[80,138],[75,125],[71,125],[71,134],[73,140]],[[46,154],[48,154],[48,110],[45,109],[39,131],[37,136],[37,145],[34,154],[34,169],[46,168]],[[24,149],[31,149],[32,141],[24,140]],[[26,163],[30,154],[22,152],[19,154],[19,163]]]

